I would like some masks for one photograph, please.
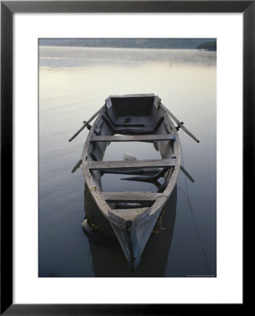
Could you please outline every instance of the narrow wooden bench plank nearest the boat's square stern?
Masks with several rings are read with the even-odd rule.
[[[123,135],[123,136],[95,136],[92,142],[148,142],[158,140],[174,140],[172,134],[165,135]]]

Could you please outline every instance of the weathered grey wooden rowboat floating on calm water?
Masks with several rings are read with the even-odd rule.
[[[177,130],[184,126],[179,122],[176,128],[170,113],[154,94],[109,96],[97,112],[98,117],[90,126],[83,147],[85,200],[90,199],[95,204],[85,209],[87,218],[83,229],[88,235],[95,230],[106,237],[115,235],[130,270],[139,266],[144,247],[181,169]],[[161,159],[103,161],[110,142],[152,143]],[[158,171],[153,171],[155,169]],[[135,174],[139,176],[130,180],[141,181],[163,177],[164,183],[156,192],[103,192],[101,178],[104,173]]]

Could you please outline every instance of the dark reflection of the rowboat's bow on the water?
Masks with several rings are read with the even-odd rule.
[[[142,254],[139,268],[133,272],[128,269],[118,242],[107,244],[104,239],[101,242],[89,239],[95,277],[163,277],[174,232],[176,206],[177,187],[174,188],[171,198],[160,214],[162,223],[156,223]]]

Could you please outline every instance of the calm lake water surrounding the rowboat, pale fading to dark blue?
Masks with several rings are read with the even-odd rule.
[[[92,242],[83,233],[85,183],[81,169],[71,170],[88,130],[68,141],[109,95],[129,93],[160,96],[200,140],[179,131],[184,167],[195,183],[179,173],[163,218],[165,230],[151,236],[135,272],[128,270],[120,246]],[[137,159],[158,157],[148,143],[111,143],[104,159],[122,160],[125,152]],[[120,178],[104,175],[104,190],[155,190]],[[216,53],[41,46],[39,277],[208,275],[216,276]]]

